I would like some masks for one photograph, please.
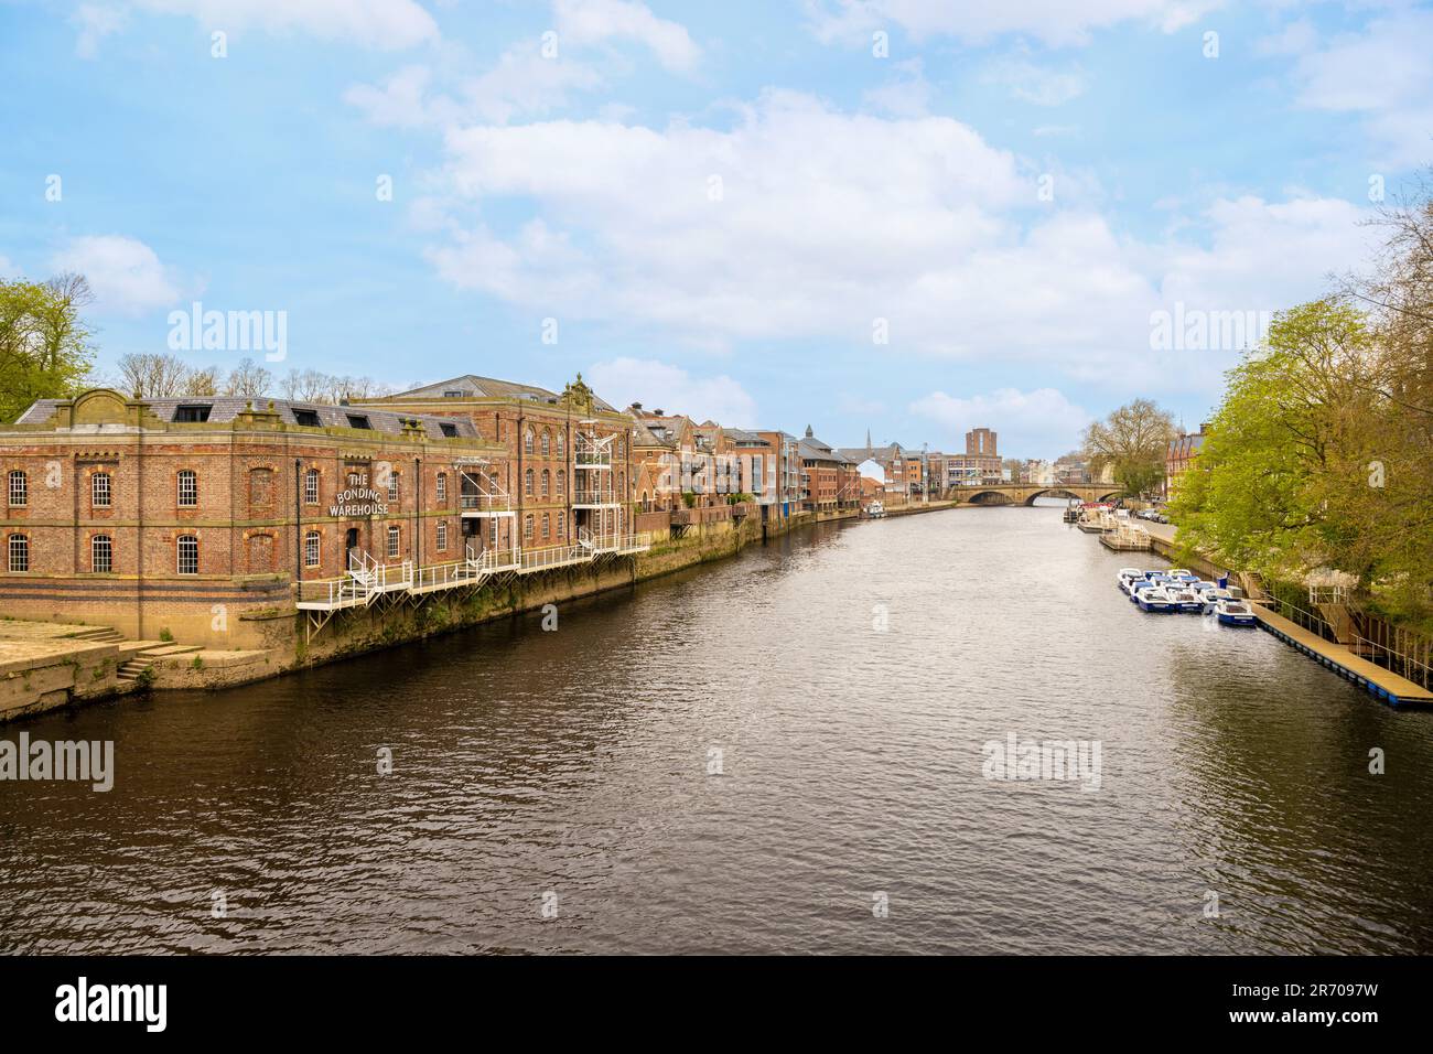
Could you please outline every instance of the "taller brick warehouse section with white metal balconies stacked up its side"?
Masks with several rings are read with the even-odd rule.
[[[582,374],[560,394],[466,374],[364,406],[463,420],[500,447],[486,478],[469,486],[464,500],[487,506],[489,493],[499,495],[496,502],[506,498],[523,548],[632,532],[633,422],[599,399]],[[489,545],[507,545],[503,529],[502,518],[493,516]]]

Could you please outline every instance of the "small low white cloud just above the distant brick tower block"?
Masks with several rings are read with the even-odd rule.
[[[1079,443],[1091,414],[1056,389],[997,389],[990,394],[957,399],[931,391],[910,404],[910,412],[949,429],[950,449],[963,450],[963,436],[989,427],[1006,450],[1068,450]]]

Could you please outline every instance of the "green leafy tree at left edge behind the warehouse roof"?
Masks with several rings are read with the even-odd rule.
[[[37,399],[79,390],[93,361],[80,308],[89,283],[62,274],[47,283],[0,280],[0,422],[13,422]]]

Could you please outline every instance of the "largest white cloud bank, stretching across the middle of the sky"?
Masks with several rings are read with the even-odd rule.
[[[1218,199],[1136,241],[1068,174],[1037,204],[1036,171],[956,120],[791,93],[729,129],[552,120],[449,129],[446,149],[433,191],[446,234],[428,257],[459,288],[715,344],[870,346],[880,318],[890,347],[874,354],[1023,361],[1112,386],[1218,390],[1237,351],[1161,359],[1151,313],[1308,300],[1358,265],[1367,238],[1353,205],[1293,192]],[[504,229],[507,201],[540,219]]]

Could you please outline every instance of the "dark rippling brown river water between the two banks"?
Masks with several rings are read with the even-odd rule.
[[[1433,951],[1433,714],[1141,614],[1129,562],[1055,506],[823,525],[7,726],[118,774],[0,783],[0,949]],[[987,779],[1012,734],[1098,741],[1098,789]]]

